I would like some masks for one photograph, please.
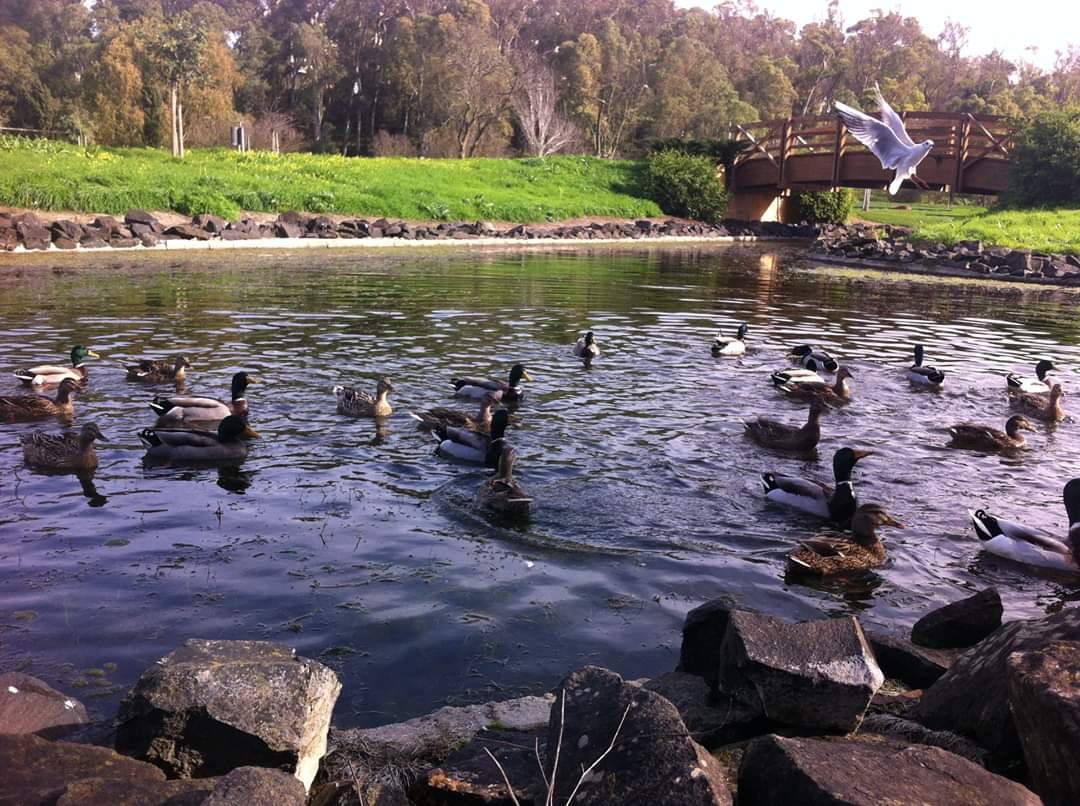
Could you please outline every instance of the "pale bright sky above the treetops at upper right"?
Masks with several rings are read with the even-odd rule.
[[[755,0],[760,9],[794,19],[799,26],[825,17],[827,0]],[[715,5],[710,0],[675,0],[676,5]],[[947,19],[968,26],[966,55],[998,49],[1012,61],[1049,68],[1054,52],[1071,42],[1080,45],[1080,2],[1077,0],[840,0],[846,26],[869,16],[874,9],[918,17],[922,30],[936,37]],[[1037,50],[1027,50],[1034,46]]]

